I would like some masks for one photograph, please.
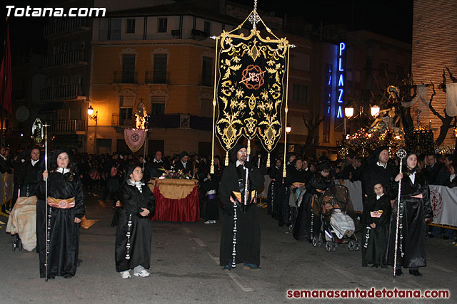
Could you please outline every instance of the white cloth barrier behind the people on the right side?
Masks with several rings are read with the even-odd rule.
[[[355,211],[363,211],[362,183],[344,180],[349,190]],[[457,187],[429,185],[430,204],[433,209],[433,223],[428,225],[457,230]]]

